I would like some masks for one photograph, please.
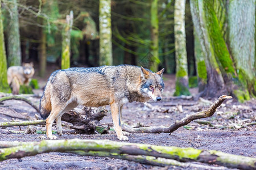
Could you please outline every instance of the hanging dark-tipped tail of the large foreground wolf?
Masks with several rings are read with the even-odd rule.
[[[43,119],[46,119],[51,113],[52,104],[51,104],[51,94],[50,94],[48,83],[46,84],[46,87],[44,87],[44,93],[40,100],[39,110],[40,110],[40,115]]]

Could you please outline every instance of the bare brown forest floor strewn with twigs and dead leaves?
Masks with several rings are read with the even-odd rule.
[[[48,78],[48,77],[47,77]],[[46,84],[46,79],[39,78],[41,87]],[[175,76],[164,75],[165,89],[163,100],[149,103],[153,106],[148,108],[143,103],[128,103],[123,107],[122,119],[129,125],[142,124],[145,126],[169,126],[176,120],[191,114],[205,110],[209,107],[209,100],[184,100],[174,99],[172,94],[175,90]],[[36,90],[36,94],[42,94],[42,90]],[[193,95],[197,88],[192,88]],[[0,96],[1,97],[1,96]],[[27,97],[32,103],[39,106],[39,97]],[[36,120],[35,109],[24,101],[7,100],[0,106],[0,122]],[[109,107],[106,107],[109,110]],[[256,100],[246,103],[238,103],[236,100],[226,100],[217,109],[212,117],[205,118],[213,125],[202,125],[191,122],[169,134],[146,134],[131,133],[129,142],[147,143],[160,146],[193,147],[203,150],[218,150],[229,154],[250,156],[256,158],[256,131],[255,125],[246,126],[256,119]],[[6,115],[8,114],[8,115]],[[19,118],[17,118],[19,117]],[[110,112],[101,120],[102,125],[112,125]],[[241,128],[245,125],[244,128]],[[46,130],[44,125],[34,126],[39,130]],[[34,142],[45,139],[45,134],[16,134],[9,130],[25,130],[26,126],[0,129],[1,141]],[[53,130],[55,127],[53,126]],[[71,129],[63,128],[68,131]],[[110,139],[118,141],[114,133],[110,134],[69,134],[65,133],[58,139]],[[216,165],[212,165],[216,167]],[[0,169],[191,169],[180,167],[158,167],[126,160],[101,158],[92,156],[79,156],[75,154],[51,152],[35,156],[27,156],[22,159],[9,159],[0,162]],[[196,168],[197,169],[197,168]],[[199,168],[200,169],[200,168]],[[202,168],[201,168],[202,169]],[[229,168],[223,168],[229,169]]]

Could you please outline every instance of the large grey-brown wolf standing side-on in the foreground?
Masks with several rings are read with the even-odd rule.
[[[164,89],[164,69],[151,70],[132,65],[73,67],[56,70],[49,76],[40,99],[40,115],[46,119],[48,139],[56,120],[57,134],[62,135],[61,116],[77,107],[101,107],[110,105],[114,130],[119,140],[128,140],[121,128],[122,106],[125,103],[150,99],[160,101]]]

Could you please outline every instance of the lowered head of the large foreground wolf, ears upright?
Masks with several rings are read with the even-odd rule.
[[[141,92],[144,96],[149,96],[154,101],[162,99],[161,94],[164,89],[163,71],[164,69],[152,73],[150,70],[141,67]]]

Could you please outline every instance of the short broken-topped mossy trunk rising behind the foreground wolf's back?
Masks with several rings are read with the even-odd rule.
[[[70,57],[71,57],[71,30],[73,25],[73,11],[66,16],[66,23],[62,32],[62,53],[61,53],[61,69],[68,69],[70,67]]]

